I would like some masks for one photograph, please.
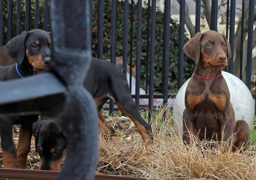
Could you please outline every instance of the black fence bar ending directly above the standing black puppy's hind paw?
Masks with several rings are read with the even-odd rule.
[[[155,34],[156,34],[156,0],[152,0],[152,12],[151,12],[151,44],[150,44],[150,84],[149,84],[149,96],[148,96],[148,123],[152,123],[153,112],[153,93],[154,93],[154,62],[155,62]]]

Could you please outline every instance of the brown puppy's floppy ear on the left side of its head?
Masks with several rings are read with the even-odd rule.
[[[200,58],[200,41],[202,38],[202,34],[200,32],[196,33],[194,37],[192,37],[184,46],[183,50],[185,54],[193,59],[196,63],[198,63]]]

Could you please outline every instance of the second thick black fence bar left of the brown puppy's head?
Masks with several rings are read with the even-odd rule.
[[[171,1],[165,0],[165,18],[164,18],[164,31],[163,31],[163,104],[166,104],[168,102],[170,13],[171,13]]]

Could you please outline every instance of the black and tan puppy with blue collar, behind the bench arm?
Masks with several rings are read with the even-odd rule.
[[[6,44],[6,50],[17,63],[5,67],[0,66],[1,81],[24,78],[40,73],[50,60],[50,34],[39,29],[24,31]],[[30,151],[32,137],[32,123],[37,119],[38,115],[0,118],[4,168],[25,169],[27,167],[27,155]],[[17,149],[12,137],[13,124],[21,125]]]

